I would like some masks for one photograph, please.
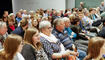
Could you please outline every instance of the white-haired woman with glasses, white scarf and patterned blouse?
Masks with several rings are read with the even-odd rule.
[[[77,52],[66,50],[63,44],[51,34],[52,28],[49,21],[41,21],[39,24],[39,30],[41,31],[41,42],[43,43],[44,50],[47,53],[49,60],[62,59],[71,54],[77,55]]]

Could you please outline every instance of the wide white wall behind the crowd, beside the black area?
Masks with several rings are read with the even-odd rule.
[[[36,10],[38,8],[65,9],[65,0],[12,0],[13,12],[20,9]]]

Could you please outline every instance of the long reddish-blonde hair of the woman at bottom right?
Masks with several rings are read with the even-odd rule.
[[[104,43],[105,39],[101,37],[91,38],[88,44],[88,56],[84,60],[97,58],[100,55],[100,51]]]

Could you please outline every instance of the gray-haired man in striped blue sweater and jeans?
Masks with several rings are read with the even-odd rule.
[[[56,19],[54,21],[54,29],[52,33],[56,36],[56,38],[60,40],[60,42],[64,45],[66,49],[76,50],[73,40],[67,34],[67,31],[64,30],[64,28],[65,28],[65,24],[64,24],[63,19],[62,18]],[[77,51],[79,52],[80,60],[83,60],[83,58],[86,56],[86,53],[79,49],[77,49]]]

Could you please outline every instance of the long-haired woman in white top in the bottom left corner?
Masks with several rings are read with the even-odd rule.
[[[25,60],[19,53],[23,46],[22,37],[11,34],[4,42],[4,49],[0,51],[0,60]]]

